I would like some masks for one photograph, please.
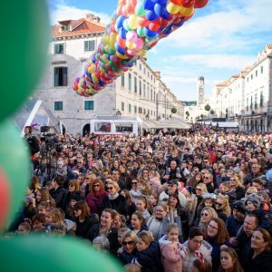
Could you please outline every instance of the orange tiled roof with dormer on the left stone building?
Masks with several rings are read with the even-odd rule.
[[[101,24],[95,24],[86,19],[79,20],[64,20],[60,21],[60,24],[54,24],[52,26],[52,36],[55,37],[63,37],[63,36],[72,36],[76,34],[90,34],[90,33],[98,33],[104,32],[105,26]],[[70,28],[68,31],[61,32],[61,24],[69,24]]]

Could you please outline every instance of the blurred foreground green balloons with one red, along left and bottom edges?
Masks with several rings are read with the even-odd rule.
[[[30,154],[15,124],[7,117],[34,91],[44,71],[50,37],[46,2],[1,3],[0,24],[5,25],[8,43],[0,44],[0,62],[4,67],[0,73],[0,235],[22,207],[30,181]],[[19,87],[9,84],[7,92],[6,83],[15,81]],[[0,248],[3,271],[123,271],[116,260],[76,238],[0,237]],[[72,253],[73,257],[69,257]]]

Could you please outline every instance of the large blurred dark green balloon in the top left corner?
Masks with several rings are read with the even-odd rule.
[[[0,120],[15,112],[44,72],[49,43],[46,0],[4,0],[0,25]]]

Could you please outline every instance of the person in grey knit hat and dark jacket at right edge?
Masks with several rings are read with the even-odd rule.
[[[265,228],[272,234],[272,214],[264,209],[261,197],[257,193],[250,194],[245,202],[248,214],[255,214],[259,219],[259,227]]]

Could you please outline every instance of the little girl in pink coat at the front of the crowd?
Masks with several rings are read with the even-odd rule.
[[[182,257],[188,251],[179,242],[179,227],[170,223],[166,235],[160,238],[161,262],[165,272],[182,271]]]

